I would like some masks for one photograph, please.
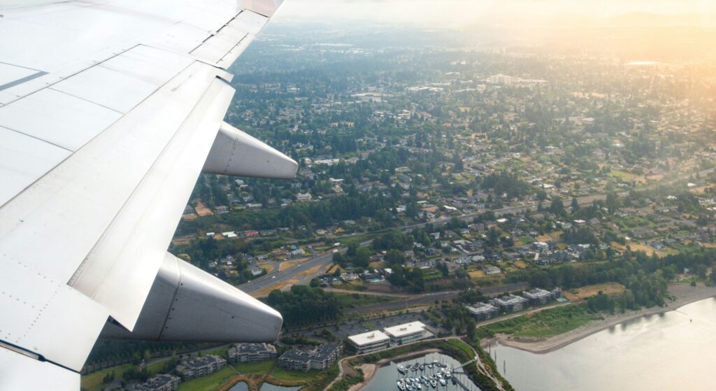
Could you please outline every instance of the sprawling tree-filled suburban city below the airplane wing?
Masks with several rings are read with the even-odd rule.
[[[546,352],[716,292],[713,64],[329,32],[271,26],[234,69],[228,122],[299,162],[296,179],[202,175],[170,246],[278,309],[277,344],[100,342],[88,372],[347,390],[372,352],[462,337],[482,361],[465,380],[510,390],[491,344]],[[391,333],[411,327],[437,342]],[[221,365],[193,380],[192,352]],[[97,373],[87,390],[120,385]]]

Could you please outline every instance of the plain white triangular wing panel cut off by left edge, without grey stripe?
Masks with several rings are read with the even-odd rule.
[[[0,127],[0,206],[69,154],[69,150]]]

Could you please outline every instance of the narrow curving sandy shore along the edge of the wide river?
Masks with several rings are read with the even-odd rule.
[[[483,339],[482,344],[483,347],[488,347],[490,344],[499,342],[505,346],[537,354],[553,352],[554,350],[561,349],[562,347],[566,347],[573,342],[579,341],[582,338],[589,337],[591,334],[601,332],[604,329],[609,329],[609,327],[614,327],[617,324],[648,315],[674,311],[674,309],[678,309],[686,304],[716,296],[716,288],[704,286],[703,284],[699,284],[698,286],[672,284],[669,285],[669,294],[675,296],[676,299],[674,301],[669,301],[667,305],[663,307],[652,307],[639,311],[627,312],[625,314],[609,315],[602,320],[590,322],[583,327],[574,329],[571,332],[556,335],[555,337],[547,339],[528,339],[498,334],[495,335],[494,338]]]

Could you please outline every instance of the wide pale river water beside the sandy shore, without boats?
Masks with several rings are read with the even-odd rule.
[[[716,299],[634,319],[547,354],[492,349],[519,391],[714,390]]]

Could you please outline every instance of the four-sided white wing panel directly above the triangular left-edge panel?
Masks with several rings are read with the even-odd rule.
[[[0,107],[0,126],[78,150],[122,114],[48,88]]]

